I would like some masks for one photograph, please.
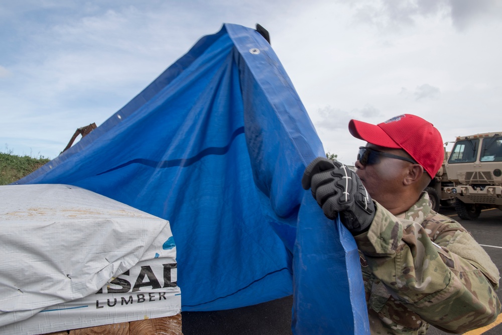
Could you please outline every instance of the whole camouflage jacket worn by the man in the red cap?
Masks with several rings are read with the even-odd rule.
[[[425,334],[429,324],[461,333],[495,320],[498,269],[458,222],[433,211],[425,192],[396,216],[376,205],[354,237],[371,334]]]

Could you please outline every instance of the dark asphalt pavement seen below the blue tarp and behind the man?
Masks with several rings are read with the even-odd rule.
[[[482,211],[478,219],[459,220],[452,208],[440,212],[458,220],[483,245],[488,255],[502,272],[502,211]],[[502,300],[502,289],[498,297]],[[182,312],[184,335],[289,335],[291,332],[292,297],[286,297],[237,309],[213,312]],[[502,334],[502,324],[491,328],[483,335]],[[431,328],[428,335],[444,335],[446,332]],[[476,335],[481,332],[476,332]],[[474,334],[473,334],[474,335]]]

